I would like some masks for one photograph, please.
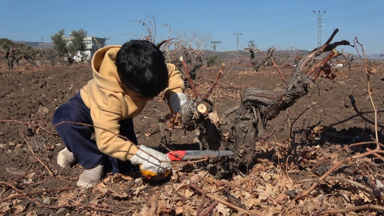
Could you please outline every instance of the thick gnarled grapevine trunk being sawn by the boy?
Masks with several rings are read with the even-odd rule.
[[[275,118],[280,111],[286,110],[308,93],[326,63],[340,55],[334,48],[338,45],[349,45],[349,42],[345,40],[329,44],[337,32],[338,29],[323,46],[314,49],[298,62],[293,71],[293,78],[282,93],[276,94],[272,91],[248,88],[242,93],[241,104],[223,114],[223,124],[218,128],[208,117],[208,113],[213,111],[212,102],[207,99],[207,95],[200,96],[193,83],[191,84],[196,99],[183,105],[180,111],[183,125],[194,128],[202,150],[220,149],[235,153],[229,160],[224,159],[225,162],[223,159],[217,159],[216,170],[236,170],[252,163],[256,140],[262,136],[267,121]],[[312,66],[313,58],[323,52],[329,53],[324,60]],[[183,63],[185,64],[185,62]],[[186,64],[184,66],[188,78]],[[189,81],[192,82],[192,80]],[[212,92],[212,88],[210,92]],[[207,106],[207,111],[204,113],[197,109],[201,104]],[[234,118],[230,118],[233,115]]]

